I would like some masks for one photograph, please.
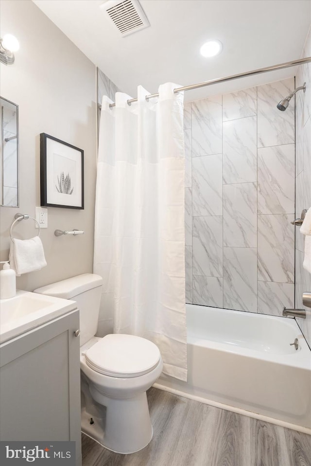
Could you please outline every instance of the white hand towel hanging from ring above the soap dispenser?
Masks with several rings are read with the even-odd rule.
[[[15,270],[17,277],[22,273],[34,272],[46,267],[43,245],[39,236],[31,239],[16,239],[11,241],[9,254],[10,268]]]

